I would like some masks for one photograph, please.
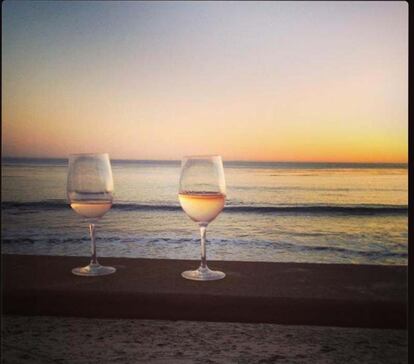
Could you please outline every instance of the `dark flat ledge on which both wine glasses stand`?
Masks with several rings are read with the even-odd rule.
[[[211,261],[226,273],[194,282],[197,261],[101,258],[117,268],[78,277],[85,257],[2,255],[3,312],[97,318],[406,327],[404,266]]]

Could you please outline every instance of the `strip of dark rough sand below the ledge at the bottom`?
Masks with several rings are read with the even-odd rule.
[[[3,316],[4,364],[407,363],[405,330]]]

